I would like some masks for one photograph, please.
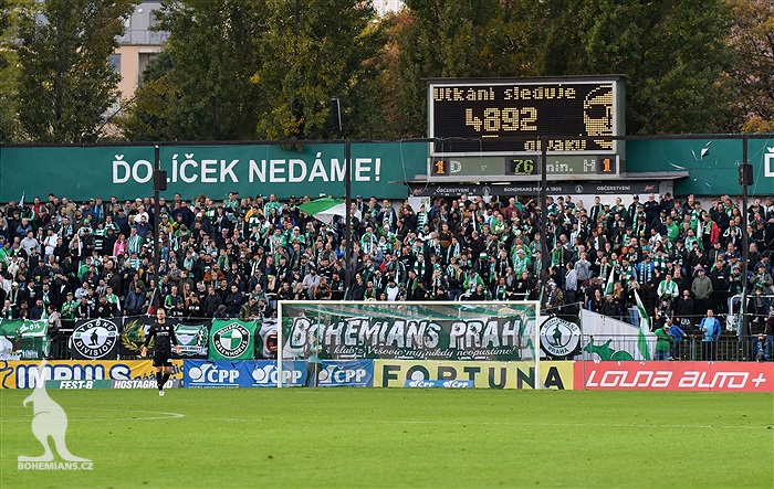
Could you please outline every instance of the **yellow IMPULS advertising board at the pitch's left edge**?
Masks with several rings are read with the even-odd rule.
[[[51,360],[41,362],[0,360],[2,389],[33,389],[43,369],[46,381],[156,380],[150,360]],[[172,360],[172,380],[182,380],[182,360]]]

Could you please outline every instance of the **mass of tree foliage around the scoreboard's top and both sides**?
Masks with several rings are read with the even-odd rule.
[[[628,134],[730,129],[731,14],[722,0],[406,3],[395,78],[407,135],[423,132],[423,78],[446,76],[624,74]]]

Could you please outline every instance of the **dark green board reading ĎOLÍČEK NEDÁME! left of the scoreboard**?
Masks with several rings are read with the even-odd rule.
[[[115,195],[119,200],[153,194],[154,146],[2,147],[0,201],[49,193],[83,201]],[[273,145],[161,146],[168,189],[189,199],[240,195],[344,195],[345,145],[297,148]],[[427,143],[352,145],[353,194],[404,199],[402,181],[427,169]]]

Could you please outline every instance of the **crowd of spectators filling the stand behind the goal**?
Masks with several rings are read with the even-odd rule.
[[[271,313],[278,299],[541,299],[553,311],[587,308],[627,320],[638,290],[655,318],[692,326],[711,306],[728,312],[746,285],[763,328],[773,313],[772,198],[746,210],[730,196],[631,200],[548,198],[543,256],[534,199],[461,195],[414,209],[357,195],[347,266],[344,220],[324,224],[301,212],[308,196],[176,194],[159,200],[156,237],[149,198],[75,203],[50,194],[10,202],[0,215],[1,315],[134,316],[157,299],[172,317],[251,319]]]

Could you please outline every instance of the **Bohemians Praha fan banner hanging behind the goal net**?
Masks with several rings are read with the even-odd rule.
[[[292,319],[283,358],[300,359],[314,334],[333,359],[522,360],[534,347],[522,317],[477,319],[345,317],[332,322]]]

